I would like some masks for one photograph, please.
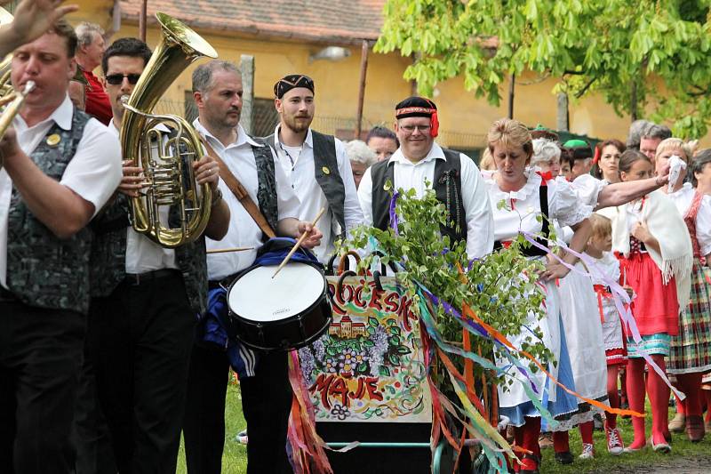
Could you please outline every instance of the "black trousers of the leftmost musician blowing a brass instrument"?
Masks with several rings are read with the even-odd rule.
[[[0,301],[0,471],[68,473],[84,315]]]

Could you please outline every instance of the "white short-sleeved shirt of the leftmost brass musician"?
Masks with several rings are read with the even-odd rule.
[[[67,96],[52,115],[39,124],[28,127],[20,115],[12,126],[17,133],[20,149],[31,155],[55,123],[63,130],[72,126],[74,105]],[[94,206],[94,215],[101,210],[121,182],[121,146],[106,125],[91,118],[84,126],[84,134],[76,147],[76,154],[62,174],[60,184],[76,192]],[[0,285],[6,285],[7,226],[12,197],[12,179],[3,168],[0,171]]]

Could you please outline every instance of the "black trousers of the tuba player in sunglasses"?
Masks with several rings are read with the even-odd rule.
[[[128,281],[98,311],[96,382],[121,473],[174,473],[196,315],[180,272]]]

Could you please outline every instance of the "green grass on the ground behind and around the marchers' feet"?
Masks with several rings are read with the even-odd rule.
[[[649,406],[647,406],[649,413]],[[247,470],[247,450],[246,446],[240,445],[236,441],[236,434],[244,430],[246,422],[242,414],[242,399],[239,385],[230,384],[228,387],[228,399],[226,404],[226,436],[225,451],[222,454],[222,472],[225,474],[244,474]],[[674,408],[669,408],[669,417],[675,414]],[[625,446],[632,442],[633,430],[629,419],[618,418],[618,426],[622,432]],[[647,417],[647,436],[651,434],[651,418]],[[700,443],[691,443],[684,434],[674,434],[671,454],[656,454],[651,448],[643,449],[635,454],[621,454],[613,456],[607,453],[604,434],[602,431],[595,431],[595,460],[582,461],[578,459],[581,452],[580,436],[578,430],[571,431],[571,451],[576,458],[575,462],[563,466],[555,462],[553,449],[543,451],[542,474],[581,474],[585,472],[624,472],[634,470],[635,467],[646,467],[650,469],[654,464],[664,464],[672,462],[675,458],[706,458],[711,457],[711,436]],[[179,474],[186,474],[185,455],[182,443],[180,443],[180,454],[178,457]],[[649,470],[647,470],[649,472]],[[337,473],[340,474],[340,473]],[[373,473],[377,474],[377,473]]]

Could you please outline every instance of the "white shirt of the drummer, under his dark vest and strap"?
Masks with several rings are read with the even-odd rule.
[[[257,162],[254,159],[252,146],[260,147],[256,141],[253,141],[247,133],[244,132],[242,125],[237,126],[237,139],[234,143],[230,143],[227,147],[222,145],[212,133],[208,132],[199,120],[193,122],[196,131],[203,135],[210,143],[212,149],[215,150],[220,158],[228,165],[229,171],[235,175],[244,189],[247,190],[252,200],[259,205],[257,198],[257,189],[259,188],[259,178],[257,175]],[[275,178],[276,178],[276,207],[278,211],[278,220],[292,217],[299,218],[299,197],[296,196],[292,189],[289,178],[284,173],[284,169],[279,165],[274,150]],[[257,256],[257,248],[262,245],[262,232],[260,226],[252,219],[252,216],[244,209],[244,205],[240,204],[228,185],[220,180],[218,186],[222,191],[222,198],[229,207],[230,220],[227,235],[220,241],[215,241],[210,238],[205,238],[207,249],[221,249],[233,247],[254,247],[253,250],[245,252],[229,252],[229,253],[212,253],[207,256],[207,276],[210,280],[220,280],[224,277],[235,274],[236,272],[246,269],[254,262]]]

